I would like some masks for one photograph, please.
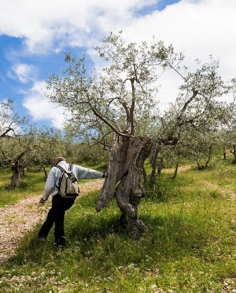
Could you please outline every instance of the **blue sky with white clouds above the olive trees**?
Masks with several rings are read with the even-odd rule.
[[[127,42],[151,40],[154,34],[176,51],[185,51],[185,64],[196,69],[196,58],[220,58],[220,74],[235,77],[234,0],[30,1],[0,3],[0,101],[9,96],[21,115],[38,126],[61,127],[63,109],[48,104],[41,87],[51,71],[65,68],[63,51],[86,52],[87,68],[101,68],[94,47],[110,31],[123,30]],[[160,80],[160,107],[176,98],[178,76]]]

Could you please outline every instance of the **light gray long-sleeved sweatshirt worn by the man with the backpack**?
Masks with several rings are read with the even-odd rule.
[[[69,164],[67,164],[65,161],[60,161],[57,163],[57,166],[61,166],[65,170],[69,170]],[[84,168],[79,165],[73,165],[72,172],[76,175],[77,179],[98,179],[103,177],[102,172]],[[62,170],[57,167],[54,167],[50,170],[44,188],[43,200],[47,200],[50,194],[53,196],[58,193],[56,185],[58,186],[61,175]]]

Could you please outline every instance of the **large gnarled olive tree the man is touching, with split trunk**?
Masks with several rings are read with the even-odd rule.
[[[107,207],[115,192],[129,231],[138,235],[145,230],[137,211],[145,195],[143,164],[153,145],[176,145],[181,128],[200,123],[204,111],[209,113],[211,100],[225,88],[222,90],[223,82],[216,73],[218,64],[203,64],[185,76],[179,65],[183,54],[176,54],[172,45],[165,47],[160,41],[125,45],[120,35],[111,34],[96,50],[108,61],[102,73],[94,69],[88,74],[84,56],[76,60],[73,54],[65,53],[69,66],[61,76],[50,74],[48,97],[71,111],[75,132],[97,140],[108,150],[108,176],[96,211]],[[157,79],[165,69],[181,74],[184,84],[176,104],[161,117]]]

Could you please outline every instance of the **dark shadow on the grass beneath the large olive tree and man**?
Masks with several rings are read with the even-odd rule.
[[[83,213],[76,219],[70,213],[66,219],[67,248],[62,255],[84,261],[93,258],[93,262],[102,267],[107,258],[113,262],[142,263],[146,255],[156,259],[167,256],[184,256],[191,251],[202,248],[208,238],[208,229],[179,212],[165,216],[142,216],[148,230],[140,239],[131,239],[127,233],[125,220],[120,213],[105,211],[97,214]],[[38,226],[39,229],[39,226]],[[27,261],[41,263],[51,257],[57,257],[53,248],[53,231],[43,244],[30,242],[33,233],[26,235],[15,256],[9,263],[22,264]],[[125,252],[125,253],[124,253]],[[59,261],[59,260],[58,260]]]

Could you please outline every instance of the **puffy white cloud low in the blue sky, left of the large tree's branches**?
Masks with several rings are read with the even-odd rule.
[[[52,126],[62,128],[64,123],[64,112],[62,107],[55,108],[55,105],[49,103],[44,96],[46,92],[44,81],[35,81],[30,93],[35,96],[30,96],[24,99],[23,106],[33,116],[36,121],[48,121]]]

